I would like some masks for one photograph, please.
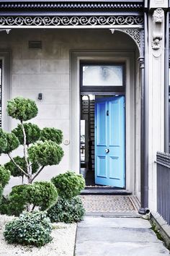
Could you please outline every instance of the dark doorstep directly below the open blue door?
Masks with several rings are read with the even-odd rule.
[[[132,195],[132,192],[125,189],[114,189],[111,187],[86,187],[81,195]]]

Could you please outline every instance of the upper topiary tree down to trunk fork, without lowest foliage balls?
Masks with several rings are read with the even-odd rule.
[[[63,139],[61,130],[41,130],[36,124],[25,123],[37,116],[37,111],[35,101],[14,98],[8,101],[7,112],[12,118],[18,119],[20,124],[11,133],[0,129],[0,153],[6,153],[11,160],[5,166],[13,176],[27,177],[27,184],[32,184],[45,166],[56,165],[63,157],[63,149],[59,145]],[[12,151],[19,145],[23,145],[23,157],[12,158]]]

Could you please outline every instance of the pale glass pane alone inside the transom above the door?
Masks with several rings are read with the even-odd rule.
[[[83,67],[84,86],[122,86],[122,66],[93,66]]]

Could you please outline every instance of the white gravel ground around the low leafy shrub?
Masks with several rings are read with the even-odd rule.
[[[74,245],[76,239],[76,223],[54,223],[53,241],[45,244],[44,247],[27,247],[18,244],[7,244],[4,240],[3,231],[7,221],[11,221],[14,217],[0,215],[0,256],[73,256]]]

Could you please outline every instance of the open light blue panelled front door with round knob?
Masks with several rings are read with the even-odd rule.
[[[95,183],[125,187],[125,97],[95,101]]]

